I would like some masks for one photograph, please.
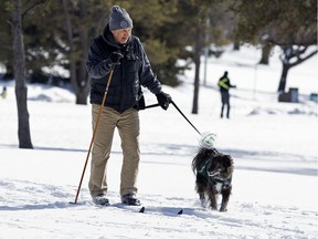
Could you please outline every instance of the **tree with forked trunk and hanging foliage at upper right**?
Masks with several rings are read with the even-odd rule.
[[[282,48],[283,72],[277,91],[284,92],[288,71],[318,52],[317,1],[239,0],[235,3],[237,38],[254,44],[265,38],[267,44]]]

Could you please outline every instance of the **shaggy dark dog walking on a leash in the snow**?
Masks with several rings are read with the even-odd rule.
[[[195,191],[203,207],[218,210],[218,195],[221,194],[220,211],[227,210],[233,169],[234,163],[230,155],[219,153],[215,148],[199,148],[192,160],[192,170],[197,176]]]

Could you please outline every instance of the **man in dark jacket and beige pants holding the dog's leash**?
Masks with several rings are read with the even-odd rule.
[[[118,6],[112,7],[109,23],[89,48],[86,67],[92,77],[91,103],[93,127],[97,119],[106,84],[113,71],[106,101],[99,117],[94,146],[88,188],[96,205],[108,206],[106,166],[117,127],[124,155],[120,174],[120,196],[125,205],[140,205],[137,198],[139,166],[139,115],[145,108],[141,85],[156,94],[159,105],[167,110],[171,97],[151,70],[140,40],[131,35],[132,20]]]

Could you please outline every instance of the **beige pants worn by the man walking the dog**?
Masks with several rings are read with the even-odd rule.
[[[100,105],[93,104],[93,127],[98,116]],[[110,156],[115,127],[121,139],[124,155],[120,175],[120,195],[136,194],[136,180],[139,166],[139,115],[130,108],[118,113],[110,107],[103,107],[97,132],[92,149],[91,178],[88,188],[92,196],[107,191],[107,162]]]

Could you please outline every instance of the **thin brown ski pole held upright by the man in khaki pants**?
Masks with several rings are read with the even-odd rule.
[[[91,154],[92,146],[93,146],[93,143],[94,143],[94,139],[95,139],[95,135],[96,135],[96,132],[97,132],[99,117],[100,117],[100,114],[102,114],[102,111],[103,111],[103,107],[104,107],[104,104],[105,104],[105,101],[106,101],[106,96],[107,96],[107,92],[108,92],[108,89],[109,89],[110,80],[113,77],[113,72],[114,72],[114,69],[109,73],[107,85],[106,85],[106,90],[105,90],[105,93],[104,93],[104,97],[103,97],[103,101],[102,101],[102,104],[100,104],[100,107],[99,107],[99,112],[98,112],[98,115],[97,115],[97,118],[96,118],[96,122],[95,122],[95,125],[94,125],[94,132],[93,132],[92,141],[91,141],[91,144],[89,144],[89,148],[88,148],[88,152],[87,152],[87,156],[86,156],[85,165],[84,165],[84,168],[83,168],[82,177],[81,177],[81,180],[80,180],[80,185],[78,185],[78,188],[77,188],[75,201],[71,202],[71,204],[77,204],[77,199],[78,199],[80,190],[81,190],[81,187],[82,187],[84,174],[85,174],[85,170],[86,170],[86,167],[87,167],[89,154]]]

